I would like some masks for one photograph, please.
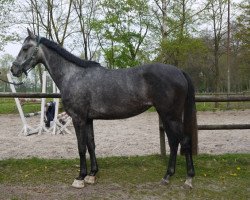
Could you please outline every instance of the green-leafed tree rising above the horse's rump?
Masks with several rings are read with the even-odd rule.
[[[195,11],[192,7],[195,2],[193,0],[168,1],[167,3],[164,0],[162,7],[158,0],[155,2],[162,13],[161,27],[166,25],[168,27],[162,28],[160,54],[157,60],[187,69],[190,67],[190,57],[197,54],[204,55],[206,52],[202,40],[197,36],[194,37],[196,18],[204,8]]]

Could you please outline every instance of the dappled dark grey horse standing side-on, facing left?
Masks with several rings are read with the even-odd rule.
[[[27,75],[42,63],[61,91],[65,111],[72,117],[80,156],[80,173],[73,186],[94,183],[98,172],[93,132],[94,119],[123,119],[154,106],[168,137],[170,158],[161,183],[169,183],[175,173],[179,144],[186,157],[187,179],[192,187],[195,175],[192,155],[197,153],[197,120],[194,87],[189,76],[165,64],[110,70],[94,61],[82,60],[53,41],[28,30],[13,62],[14,76]],[[143,140],[143,138],[142,138]],[[91,169],[87,173],[86,150]]]

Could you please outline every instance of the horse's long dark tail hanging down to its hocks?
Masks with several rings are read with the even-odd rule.
[[[188,74],[183,72],[188,82],[188,93],[185,100],[184,107],[184,134],[188,135],[191,139],[192,154],[197,155],[198,153],[198,129],[197,129],[197,118],[196,118],[196,106],[195,106],[195,90],[191,78]],[[184,154],[184,149],[181,149],[181,154]]]

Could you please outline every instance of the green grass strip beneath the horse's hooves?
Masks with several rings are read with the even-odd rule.
[[[168,158],[159,155],[99,158],[99,182],[93,187],[116,184],[116,192],[132,199],[249,199],[250,154],[199,155],[194,158],[194,189],[184,190],[185,159],[177,159],[177,171],[169,186],[159,186]],[[89,161],[88,161],[89,162]],[[9,159],[0,161],[0,186],[70,185],[78,174],[78,159]],[[0,187],[1,188],[1,187]],[[84,190],[87,190],[85,188]],[[90,187],[89,187],[90,189]],[[104,196],[96,191],[95,198]],[[115,196],[113,196],[115,197]],[[13,196],[15,198],[15,196]],[[156,198],[156,199],[157,199]],[[98,198],[97,198],[98,199]]]

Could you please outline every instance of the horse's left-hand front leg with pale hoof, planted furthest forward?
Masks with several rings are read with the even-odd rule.
[[[78,152],[80,156],[80,173],[79,176],[74,180],[72,186],[75,188],[84,187],[84,178],[87,176],[87,164],[86,164],[86,148],[87,148],[87,127],[86,120],[73,119],[75,127]]]

